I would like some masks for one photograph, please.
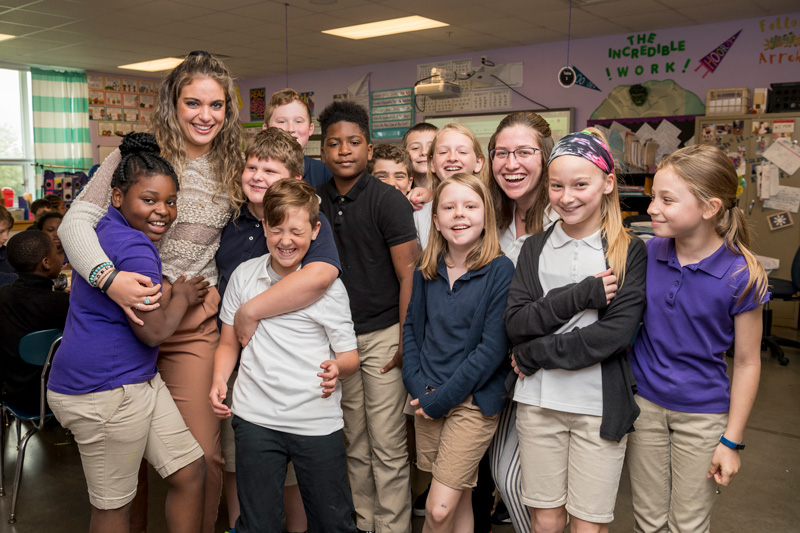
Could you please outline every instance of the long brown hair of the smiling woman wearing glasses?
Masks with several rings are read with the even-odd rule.
[[[541,148],[541,152],[537,155],[542,158],[542,174],[534,187],[536,195],[533,205],[525,213],[525,233],[539,233],[544,229],[544,212],[550,203],[547,187],[544,184],[547,182],[547,160],[550,159],[550,153],[553,151],[553,135],[550,131],[550,124],[541,116],[532,111],[516,111],[506,115],[497,125],[494,135],[489,140],[490,154],[497,144],[497,136],[500,132],[513,126],[530,128],[531,134]],[[503,189],[497,184],[491,161],[489,161],[489,176],[489,192],[497,213],[497,230],[502,232],[514,222],[514,200],[506,196]]]

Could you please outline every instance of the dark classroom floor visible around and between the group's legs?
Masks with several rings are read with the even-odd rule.
[[[775,333],[800,338],[793,329],[775,328]],[[716,531],[800,531],[800,351],[787,348],[786,354],[791,363],[783,367],[768,352],[762,353],[761,385],[748,424],[742,470],[719,495],[712,519]],[[77,448],[55,424],[49,424],[28,446],[18,520],[14,525],[8,524],[16,460],[13,426],[8,436],[11,442],[6,443],[4,451],[6,495],[0,498],[0,533],[86,531],[90,507]],[[424,489],[425,483],[422,476],[415,477],[415,492]],[[155,474],[151,475],[151,487],[149,531],[158,533],[166,531],[164,486]],[[223,505],[217,531],[224,531],[225,525]],[[415,518],[414,532],[421,529],[422,519]],[[633,529],[626,473],[610,529]],[[512,532],[511,526],[494,529],[494,533]]]

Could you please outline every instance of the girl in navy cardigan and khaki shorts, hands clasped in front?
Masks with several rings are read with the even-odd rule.
[[[416,409],[417,466],[433,473],[423,530],[472,531],[478,463],[505,405],[503,311],[514,265],[480,178],[452,176],[432,205],[435,230],[403,330],[403,382]]]

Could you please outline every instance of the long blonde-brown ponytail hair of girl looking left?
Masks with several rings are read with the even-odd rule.
[[[738,272],[747,269],[750,276],[739,301],[752,292],[753,301],[761,302],[767,293],[767,274],[750,250],[750,228],[736,200],[738,179],[733,163],[719,148],[695,145],[662,159],[658,170],[664,168],[680,176],[701,204],[707,206],[712,198],[720,200],[722,206],[714,217],[714,230],[731,253],[744,257],[747,265]]]

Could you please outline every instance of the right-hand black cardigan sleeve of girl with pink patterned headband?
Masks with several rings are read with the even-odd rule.
[[[647,251],[634,238],[628,247],[625,282],[601,318],[584,328],[559,335],[544,335],[518,344],[514,356],[526,368],[579,370],[624,350],[633,339],[645,305]]]

